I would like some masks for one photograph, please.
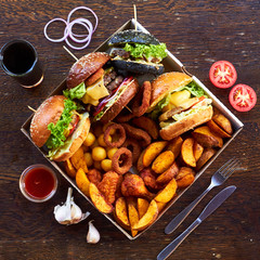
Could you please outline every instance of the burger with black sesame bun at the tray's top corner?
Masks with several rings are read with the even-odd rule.
[[[161,61],[167,56],[166,44],[154,36],[128,29],[115,34],[109,40],[110,56],[115,67],[132,74],[164,73]]]

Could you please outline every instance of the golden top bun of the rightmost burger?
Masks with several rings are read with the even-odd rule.
[[[184,73],[165,73],[152,82],[152,96],[148,110],[152,110],[156,104],[167,94],[176,89],[186,86],[192,78]]]

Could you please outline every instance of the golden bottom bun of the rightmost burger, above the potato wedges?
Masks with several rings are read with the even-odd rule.
[[[204,122],[209,121],[212,115],[213,115],[212,106],[208,106],[203,112],[194,113],[180,121],[173,122],[172,125],[162,128],[159,131],[159,134],[164,140],[171,140]]]

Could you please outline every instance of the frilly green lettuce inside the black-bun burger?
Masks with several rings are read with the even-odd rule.
[[[123,48],[125,51],[130,52],[130,55],[135,58],[142,58],[145,57],[146,60],[151,61],[153,57],[158,58],[161,61],[164,57],[167,56],[166,53],[166,44],[160,43],[158,46],[155,44],[140,44],[140,43],[133,43],[129,44],[127,43]]]

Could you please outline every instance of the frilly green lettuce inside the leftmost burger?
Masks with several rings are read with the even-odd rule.
[[[68,128],[72,119],[72,112],[77,109],[77,105],[72,100],[64,101],[64,110],[60,120],[54,125],[53,122],[48,125],[48,129],[51,131],[51,135],[48,139],[46,145],[49,150],[57,148],[64,144],[66,136],[65,130]]]

